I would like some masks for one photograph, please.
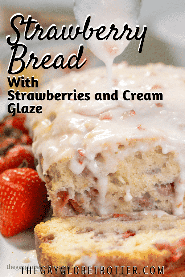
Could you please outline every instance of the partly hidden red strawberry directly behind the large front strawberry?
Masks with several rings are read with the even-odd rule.
[[[34,156],[30,146],[15,145],[0,160],[0,174],[6,169],[16,167],[35,168]]]

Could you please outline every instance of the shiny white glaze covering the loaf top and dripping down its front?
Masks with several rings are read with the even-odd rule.
[[[96,82],[91,82],[99,77]],[[35,121],[40,124],[34,129],[36,141],[32,149],[39,159],[41,153],[44,159],[43,174],[49,166],[68,157],[68,167],[75,174],[81,174],[87,167],[97,181],[99,201],[97,209],[100,215],[108,213],[105,195],[107,192],[107,175],[117,170],[119,161],[136,151],[147,151],[160,145],[162,153],[172,151],[175,161],[179,164],[180,175],[175,181],[174,215],[183,213],[183,196],[185,190],[185,70],[162,64],[141,67],[127,67],[124,63],[113,66],[113,78],[118,85],[118,101],[96,101],[97,91],[106,91],[106,70],[98,68],[81,73],[72,73],[65,78],[51,81],[41,88],[50,88],[53,93],[58,91],[58,85],[64,91],[89,91],[89,101],[42,101],[42,114],[35,114],[30,120],[30,127]],[[73,81],[72,81],[73,80]],[[82,83],[83,82],[83,83]],[[158,85],[160,89],[151,89]],[[156,92],[162,91],[162,101],[123,100],[124,90]],[[62,91],[60,91],[62,92]],[[160,102],[163,106],[156,106]],[[135,114],[130,111],[134,110]],[[56,113],[53,122],[48,120],[51,113]],[[110,119],[102,120],[102,114],[111,114]],[[100,116],[101,114],[101,116]],[[46,120],[47,119],[47,120]],[[138,128],[138,126],[140,126]],[[48,129],[50,128],[50,130]],[[130,139],[146,138],[137,147],[129,147]],[[153,140],[152,138],[156,138]],[[125,145],[124,151],[119,151],[119,145]],[[85,151],[84,160],[79,163],[78,150]],[[98,153],[106,151],[104,163],[96,160]],[[117,152],[117,155],[114,153]]]

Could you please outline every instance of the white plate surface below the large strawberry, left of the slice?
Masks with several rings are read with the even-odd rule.
[[[51,216],[52,210],[50,209],[43,221],[51,219]],[[36,276],[43,276],[40,273],[36,257],[34,228],[10,238],[5,238],[0,233],[0,261],[0,272],[3,277],[35,276],[34,267],[38,269],[38,271],[35,271],[38,274]],[[23,275],[21,267],[24,267]],[[27,275],[27,269],[29,275]]]

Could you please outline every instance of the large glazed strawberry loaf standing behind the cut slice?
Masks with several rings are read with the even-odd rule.
[[[113,66],[112,81],[118,100],[95,99],[98,91],[102,99],[107,92],[105,68],[71,73],[40,88],[63,93],[59,101],[36,101],[43,112],[29,115],[32,150],[54,215],[183,214],[185,70],[122,63]],[[90,92],[90,100],[82,92]]]

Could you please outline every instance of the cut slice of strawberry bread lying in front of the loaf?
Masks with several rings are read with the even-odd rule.
[[[163,277],[182,277],[185,276],[185,221],[181,218],[139,214],[53,218],[35,227],[38,262],[47,266],[43,268],[46,276],[51,276],[51,271],[47,275],[48,266],[52,267],[53,276],[68,276],[68,266],[71,277],[75,276],[74,266],[79,268],[77,276],[89,276],[81,275],[84,266],[86,272],[88,267],[92,270],[89,271],[92,276],[102,276],[100,270],[104,267],[105,277],[136,276],[136,272],[141,277],[160,276],[159,271]],[[54,266],[58,267],[57,275]],[[61,266],[66,268],[65,275],[60,273]],[[107,273],[110,267],[111,275]]]

